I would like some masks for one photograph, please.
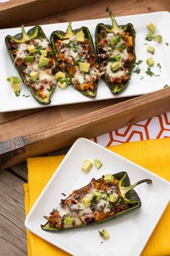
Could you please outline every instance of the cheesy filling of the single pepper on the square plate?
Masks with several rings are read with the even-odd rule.
[[[82,226],[87,223],[102,221],[127,210],[131,206],[125,202],[118,187],[119,180],[100,182],[91,179],[88,186],[74,190],[66,200],[50,213],[49,225],[57,229]]]

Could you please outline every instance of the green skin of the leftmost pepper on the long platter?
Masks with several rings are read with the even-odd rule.
[[[9,52],[9,55],[12,59],[12,62],[14,63],[14,56],[13,54],[11,53],[10,51],[10,47],[9,47],[9,40],[14,40],[15,43],[22,43],[24,42],[24,40],[30,40],[30,39],[35,39],[35,38],[38,38],[38,39],[41,39],[41,38],[47,38],[45,33],[43,33],[42,31],[42,28],[40,26],[35,26],[35,27],[32,27],[27,33],[25,33],[23,27],[22,27],[22,33],[19,33],[17,35],[6,35],[6,38],[5,38],[5,43],[6,43],[6,48],[7,48],[7,51]],[[50,43],[50,42],[49,42]],[[22,71],[19,69],[19,67],[17,67],[17,65],[14,63],[14,66],[17,68],[17,71],[19,72],[19,75],[20,77],[22,78],[22,82],[27,85],[27,83],[24,81],[24,76],[22,74]],[[60,71],[61,68],[57,67],[55,65],[55,69],[56,69],[56,72]],[[52,90],[49,90],[48,91],[48,95],[47,97],[45,98],[41,98],[40,95],[38,95],[32,88],[30,85],[27,85],[30,89],[30,92],[32,93],[32,96],[39,102],[39,103],[42,103],[44,105],[47,105],[50,103],[50,97],[53,93],[53,91],[55,90],[55,87],[52,88]]]

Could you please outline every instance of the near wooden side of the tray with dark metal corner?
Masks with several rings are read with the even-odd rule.
[[[170,111],[170,88],[107,106],[58,125],[53,124],[45,131],[15,139],[17,143],[9,140],[7,149],[6,142],[1,142],[1,168],[14,166],[29,156],[43,155],[65,148],[78,137],[91,138],[166,111]]]

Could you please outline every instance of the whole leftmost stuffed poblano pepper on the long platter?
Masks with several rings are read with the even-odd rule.
[[[35,26],[26,33],[22,25],[22,33],[7,35],[5,42],[22,81],[32,95],[39,103],[50,103],[50,96],[57,85],[55,74],[61,69],[55,63],[50,41],[42,28]]]

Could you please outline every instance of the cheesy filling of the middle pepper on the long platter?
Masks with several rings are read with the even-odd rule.
[[[76,35],[66,40],[57,40],[55,47],[58,51],[58,61],[61,67],[72,77],[72,82],[79,90],[94,90],[99,80],[99,64],[93,52],[91,42],[85,38],[83,42],[76,41]],[[80,64],[87,64],[86,71],[81,70]]]

